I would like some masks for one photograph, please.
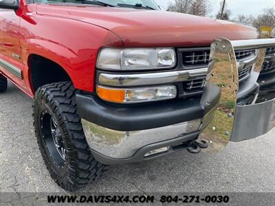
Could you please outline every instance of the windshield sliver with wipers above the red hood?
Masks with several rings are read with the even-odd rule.
[[[36,3],[85,3],[85,4],[96,4],[96,5],[110,5],[115,7],[126,7],[126,8],[139,8],[139,9],[153,9],[159,10],[159,6],[154,0],[34,0]]]

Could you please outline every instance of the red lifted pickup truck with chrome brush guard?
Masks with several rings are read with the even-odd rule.
[[[45,165],[74,191],[107,165],[267,133],[275,42],[257,38],[153,0],[0,0],[0,92],[34,99]]]

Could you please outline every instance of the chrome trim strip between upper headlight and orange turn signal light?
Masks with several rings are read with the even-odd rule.
[[[199,76],[205,77],[207,73],[208,68],[137,74],[100,73],[99,84],[113,87],[168,84],[193,80]]]

